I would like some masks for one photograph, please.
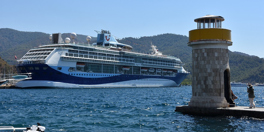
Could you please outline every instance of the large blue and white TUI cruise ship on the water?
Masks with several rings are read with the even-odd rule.
[[[190,73],[182,61],[162,55],[152,43],[152,54],[132,52],[109,31],[101,30],[97,43],[77,43],[75,33],[61,38],[49,36],[50,43],[30,49],[17,60],[18,73],[31,73],[20,81],[21,88],[97,88],[97,87],[177,87]],[[71,43],[70,43],[71,42]]]

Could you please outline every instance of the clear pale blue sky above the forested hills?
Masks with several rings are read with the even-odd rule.
[[[194,19],[222,16],[225,19],[222,28],[231,30],[233,45],[228,49],[264,58],[263,0],[0,0],[0,3],[0,28],[48,34],[75,32],[92,37],[97,37],[95,30],[101,29],[117,38],[166,33],[189,37],[189,31],[197,29]]]

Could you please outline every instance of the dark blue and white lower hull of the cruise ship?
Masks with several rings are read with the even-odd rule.
[[[176,76],[129,75],[87,72],[62,73],[59,70],[55,70],[52,67],[49,67],[47,64],[18,64],[16,65],[16,67],[24,67],[20,68],[21,70],[18,70],[19,73],[32,73],[32,79],[21,81],[17,84],[17,86],[22,88],[179,86],[180,83],[188,75],[188,73],[177,73]],[[29,67],[34,68],[32,69]],[[38,68],[36,69],[35,67]]]

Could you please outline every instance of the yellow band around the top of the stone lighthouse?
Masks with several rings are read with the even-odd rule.
[[[220,28],[194,29],[189,31],[189,42],[223,40],[231,42],[231,30]]]

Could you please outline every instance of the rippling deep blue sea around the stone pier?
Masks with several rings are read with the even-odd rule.
[[[264,87],[254,88],[256,107],[264,107]],[[232,91],[237,106],[249,106],[246,87]],[[45,132],[264,131],[263,119],[174,112],[191,96],[191,86],[0,89],[0,126],[39,122]]]

